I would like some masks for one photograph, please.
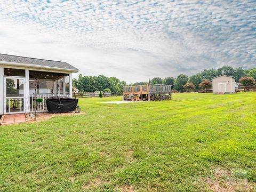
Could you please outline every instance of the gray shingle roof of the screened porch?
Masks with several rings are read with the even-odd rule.
[[[43,66],[43,67],[54,67],[54,68],[70,69],[70,70],[79,71],[77,68],[71,66],[67,62],[20,57],[20,56],[16,56],[16,55],[8,55],[8,54],[0,53],[0,62],[1,61],[25,63],[25,64],[37,65],[37,66]]]

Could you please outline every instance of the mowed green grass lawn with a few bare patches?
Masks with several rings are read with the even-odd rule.
[[[0,127],[0,191],[256,191],[256,93],[173,94]]]

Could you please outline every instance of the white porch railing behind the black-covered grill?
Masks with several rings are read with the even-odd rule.
[[[30,101],[30,112],[45,112],[47,111],[46,107],[46,99],[50,97],[66,97],[69,98],[70,95],[63,95],[63,94],[29,94],[29,101]],[[43,102],[36,102],[37,99],[42,99]]]

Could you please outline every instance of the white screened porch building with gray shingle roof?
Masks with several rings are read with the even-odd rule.
[[[67,62],[0,54],[0,115],[46,111],[45,99],[71,98],[78,71]]]

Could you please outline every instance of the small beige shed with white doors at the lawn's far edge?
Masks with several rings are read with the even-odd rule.
[[[212,92],[217,93],[236,93],[235,77],[219,75],[212,78]]]

